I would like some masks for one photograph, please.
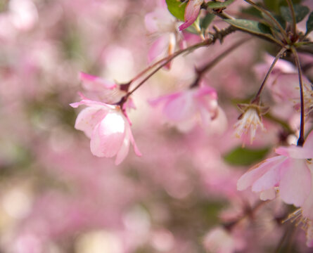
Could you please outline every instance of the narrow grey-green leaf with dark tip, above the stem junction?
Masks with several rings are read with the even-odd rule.
[[[224,21],[245,32],[251,32],[253,34],[266,36],[269,39],[274,39],[271,35],[272,34],[271,29],[267,25],[262,24],[261,22],[243,19],[236,20],[229,19]]]

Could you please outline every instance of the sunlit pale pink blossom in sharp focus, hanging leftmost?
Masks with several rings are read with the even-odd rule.
[[[91,153],[97,157],[113,157],[115,164],[120,164],[127,156],[129,143],[132,143],[136,155],[141,153],[136,146],[129,120],[124,116],[119,105],[108,105],[82,96],[82,100],[70,104],[88,107],[79,112],[75,128],[84,131],[91,138]]]

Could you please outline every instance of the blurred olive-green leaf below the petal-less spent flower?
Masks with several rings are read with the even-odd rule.
[[[250,149],[250,148],[235,148],[224,155],[225,162],[236,166],[248,166],[264,159],[269,153],[269,148]]]

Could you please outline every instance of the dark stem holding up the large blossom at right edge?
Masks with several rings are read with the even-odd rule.
[[[299,75],[301,122],[300,122],[300,134],[299,134],[297,145],[302,146],[303,143],[305,143],[305,101],[304,101],[304,95],[303,95],[302,70],[300,66],[299,56],[294,46],[291,47],[291,51],[293,52],[293,56],[295,56],[295,65],[298,68],[298,75]]]

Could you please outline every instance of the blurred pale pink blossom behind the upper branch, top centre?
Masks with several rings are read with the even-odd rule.
[[[155,38],[148,53],[149,63],[159,57],[170,56],[177,48],[184,47],[177,20],[167,8],[156,8],[155,11],[148,13],[145,17],[145,24],[148,32]],[[170,63],[165,67],[170,68]]]

